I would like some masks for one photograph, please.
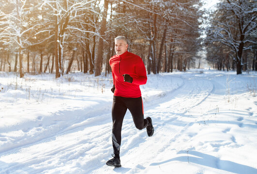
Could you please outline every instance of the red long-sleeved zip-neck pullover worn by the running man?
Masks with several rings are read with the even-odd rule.
[[[113,83],[115,86],[114,95],[120,97],[140,97],[139,85],[146,84],[146,68],[142,59],[128,51],[122,55],[115,55],[109,60]],[[123,74],[129,74],[133,82],[124,82]]]

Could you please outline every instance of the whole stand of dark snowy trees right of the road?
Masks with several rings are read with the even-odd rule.
[[[257,0],[221,0],[210,16],[205,47],[213,68],[257,71]]]

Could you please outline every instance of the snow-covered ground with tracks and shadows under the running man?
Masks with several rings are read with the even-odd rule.
[[[0,174],[257,174],[257,73],[190,70],[141,86],[155,133],[127,112],[111,159],[111,75],[0,73]]]

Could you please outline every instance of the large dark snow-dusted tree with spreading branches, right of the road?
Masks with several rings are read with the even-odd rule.
[[[230,47],[235,54],[237,74],[242,73],[243,50],[246,43],[256,44],[251,35],[257,31],[257,0],[227,0],[218,4],[208,29],[208,40]]]

